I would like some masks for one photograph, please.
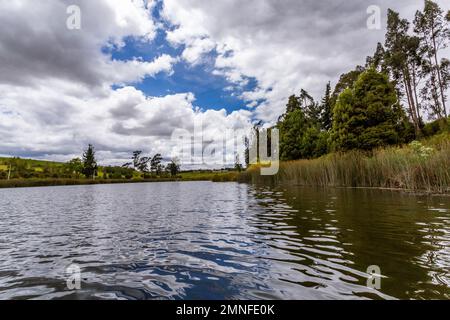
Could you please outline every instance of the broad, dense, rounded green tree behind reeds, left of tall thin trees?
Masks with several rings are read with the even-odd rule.
[[[387,75],[369,69],[339,96],[333,112],[334,149],[372,150],[401,142],[404,113]]]

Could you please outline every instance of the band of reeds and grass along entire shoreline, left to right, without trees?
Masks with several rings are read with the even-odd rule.
[[[2,163],[7,159],[0,158]],[[17,160],[17,159],[16,159]],[[63,166],[63,163],[37,160],[28,163],[39,171],[40,166]],[[245,171],[199,170],[180,172],[177,176],[143,178],[135,171],[129,179],[105,179],[103,167],[96,179],[29,178],[1,180],[1,188],[44,186],[97,185],[120,183],[212,181],[309,187],[374,188],[412,191],[428,194],[450,194],[450,133],[441,133],[404,146],[379,148],[371,152],[348,151],[331,153],[317,159],[281,161],[274,176],[262,176],[260,167],[251,165]],[[3,164],[3,169],[5,165]],[[47,169],[49,170],[49,169]]]

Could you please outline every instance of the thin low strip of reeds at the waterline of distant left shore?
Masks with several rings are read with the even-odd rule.
[[[118,183],[148,183],[148,182],[173,182],[173,181],[213,181],[226,182],[236,181],[237,172],[186,172],[180,176],[158,177],[152,179],[11,179],[0,180],[0,188],[27,188],[47,186],[72,186],[72,185],[94,185],[94,184],[118,184]]]

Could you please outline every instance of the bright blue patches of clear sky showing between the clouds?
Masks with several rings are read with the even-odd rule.
[[[143,42],[132,37],[124,39],[125,46],[118,48],[104,47],[103,52],[111,55],[114,60],[132,60],[134,58],[153,61],[163,54],[179,57],[184,46],[174,48],[166,40],[166,32],[158,30],[152,42]],[[244,91],[257,87],[257,81],[248,78],[244,87],[233,86],[225,77],[213,74],[214,61],[217,53],[211,52],[205,56],[202,63],[190,65],[181,60],[174,65],[173,74],[160,73],[147,77],[141,83],[133,84],[148,96],[165,96],[168,94],[192,92],[195,105],[203,110],[226,109],[228,113],[246,108],[247,103],[239,96]]]

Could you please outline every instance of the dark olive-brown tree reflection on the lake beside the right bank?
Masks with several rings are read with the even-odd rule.
[[[340,294],[347,294],[352,289],[348,283],[364,285],[367,267],[378,265],[386,295],[450,297],[448,198],[361,189],[287,188],[258,194],[263,203],[267,195],[294,209],[284,220],[295,228],[289,237],[293,245],[283,249],[305,257],[302,264],[311,265],[313,275],[323,280],[312,282],[326,291],[337,285]],[[353,293],[374,297],[361,287]]]

